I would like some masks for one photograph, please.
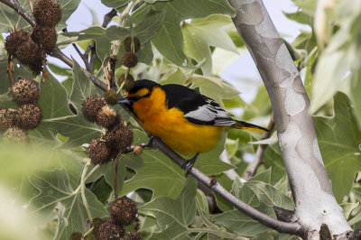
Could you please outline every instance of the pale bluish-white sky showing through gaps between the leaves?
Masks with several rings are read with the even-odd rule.
[[[300,33],[300,29],[307,29],[307,26],[294,23],[282,14],[282,12],[293,13],[297,10],[297,7],[293,5],[291,0],[264,0],[264,5],[271,15],[277,30],[288,42],[292,42],[295,39]],[[82,0],[77,11],[70,16],[67,22],[69,24],[68,31],[77,32],[88,28],[93,21],[91,11],[97,16],[95,22],[101,24],[104,15],[110,10],[111,8],[102,5],[100,0]],[[67,47],[63,51],[67,56],[71,55],[80,65],[83,65],[82,60],[72,46]],[[255,96],[256,89],[262,84],[250,54],[243,51],[242,54],[237,56],[229,51],[218,51],[215,55],[215,59],[222,59],[222,62],[214,63],[216,73],[239,89],[241,97],[246,102],[250,102]],[[219,56],[225,55],[227,56],[226,58],[219,58]],[[62,67],[67,67],[64,63],[53,58],[48,57],[48,61],[59,64]]]

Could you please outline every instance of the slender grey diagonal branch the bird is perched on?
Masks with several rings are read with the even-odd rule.
[[[5,0],[0,0],[0,2],[8,2]],[[14,2],[12,2],[14,3]],[[16,1],[17,3],[17,1]],[[12,4],[9,5],[13,7],[18,13],[22,12],[23,16],[28,16],[23,10],[21,5]],[[29,23],[34,23],[32,18],[28,16],[28,18],[25,18]],[[51,56],[58,58],[59,60],[62,60],[64,63],[66,63],[70,68],[73,67],[72,60],[70,60],[66,55],[64,55],[58,47],[54,47],[52,50]],[[93,76],[90,72],[83,69],[87,77],[98,87],[106,91],[106,84],[102,81],[100,81],[97,77]],[[123,106],[125,110],[129,113],[128,109]],[[130,113],[130,115],[132,115]],[[132,115],[134,117],[134,115]],[[134,118],[136,120],[136,118]],[[145,131],[146,132],[146,131]],[[147,133],[147,132],[146,132]],[[148,133],[147,133],[148,134]],[[161,150],[165,155],[167,155],[173,162],[176,162],[179,166],[182,166],[185,160],[180,157],[180,155],[176,152],[174,152],[169,146],[167,146],[165,143],[162,142],[161,139],[154,137],[153,138],[153,147]],[[289,233],[292,235],[303,235],[304,231],[301,228],[301,226],[297,223],[285,223],[280,220],[274,219],[272,217],[269,217],[265,215],[264,213],[258,211],[255,208],[252,208],[245,204],[245,202],[241,201],[240,199],[236,198],[234,195],[232,195],[230,192],[227,191],[227,189],[223,188],[218,182],[216,184],[211,183],[211,179],[208,178],[204,173],[197,170],[196,168],[192,168],[190,170],[190,174],[203,184],[205,184],[209,189],[212,189],[214,192],[217,192],[219,196],[227,200],[228,203],[235,206],[240,211],[244,212],[247,216],[254,218],[255,220],[259,221],[260,223],[264,224],[265,226],[272,227],[273,229],[282,232],[282,233]]]

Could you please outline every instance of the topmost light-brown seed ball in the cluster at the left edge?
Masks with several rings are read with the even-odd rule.
[[[39,99],[39,84],[32,79],[18,79],[11,93],[17,105],[36,104]]]

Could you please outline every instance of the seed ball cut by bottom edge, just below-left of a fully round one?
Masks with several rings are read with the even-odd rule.
[[[122,226],[116,225],[112,219],[104,220],[97,227],[97,240],[120,239],[125,235],[125,230]]]

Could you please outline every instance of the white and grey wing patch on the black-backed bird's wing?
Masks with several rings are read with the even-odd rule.
[[[184,116],[205,123],[213,122],[213,125],[231,126],[236,124],[231,115],[218,106],[216,102],[211,99],[207,99],[206,102],[207,105],[199,106],[197,110],[190,111]]]

